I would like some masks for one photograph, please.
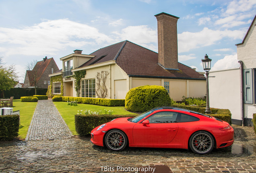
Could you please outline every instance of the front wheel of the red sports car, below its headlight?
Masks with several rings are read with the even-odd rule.
[[[125,149],[128,144],[126,134],[118,129],[108,131],[104,140],[106,147],[114,151],[121,151]]]

